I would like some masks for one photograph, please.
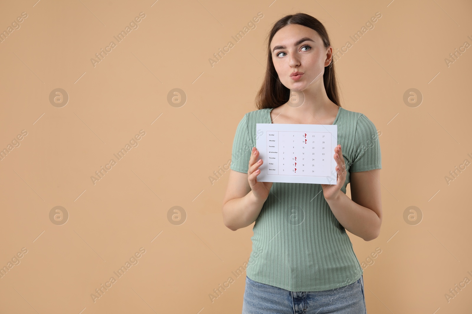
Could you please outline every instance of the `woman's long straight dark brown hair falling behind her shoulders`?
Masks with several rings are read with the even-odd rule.
[[[279,80],[277,71],[275,71],[274,63],[272,62],[272,54],[270,52],[270,42],[274,37],[275,33],[278,32],[284,26],[288,24],[300,24],[306,27],[310,27],[312,30],[320,34],[323,40],[323,45],[328,48],[331,44],[329,41],[328,32],[326,28],[311,15],[305,13],[296,13],[293,15],[287,15],[279,19],[272,29],[267,41],[267,66],[264,81],[262,82],[261,89],[256,95],[256,106],[258,109],[263,108],[276,108],[280,105],[287,103],[290,98],[290,89],[285,87]],[[325,67],[323,74],[323,83],[328,98],[341,107],[339,103],[339,96],[337,92],[337,81],[336,73],[334,71],[333,59],[331,63]]]

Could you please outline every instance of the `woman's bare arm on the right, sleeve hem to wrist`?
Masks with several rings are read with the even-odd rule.
[[[379,236],[382,224],[380,169],[351,173],[351,197],[343,192],[326,201],[339,223],[365,241]]]

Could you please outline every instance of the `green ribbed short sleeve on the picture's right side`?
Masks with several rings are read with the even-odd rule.
[[[350,172],[382,169],[377,129],[364,114],[357,120],[354,135],[354,156]]]

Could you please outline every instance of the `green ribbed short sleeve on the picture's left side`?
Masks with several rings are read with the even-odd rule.
[[[233,152],[231,153],[232,170],[247,173],[249,170],[249,159],[251,158],[251,147],[249,129],[247,127],[247,113],[239,121],[233,140]]]

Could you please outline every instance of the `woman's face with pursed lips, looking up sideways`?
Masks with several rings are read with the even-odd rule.
[[[324,67],[331,61],[332,48],[324,48],[318,32],[300,24],[289,24],[275,33],[270,42],[275,70],[288,89],[302,91],[323,79]],[[290,76],[302,72],[300,76]]]

